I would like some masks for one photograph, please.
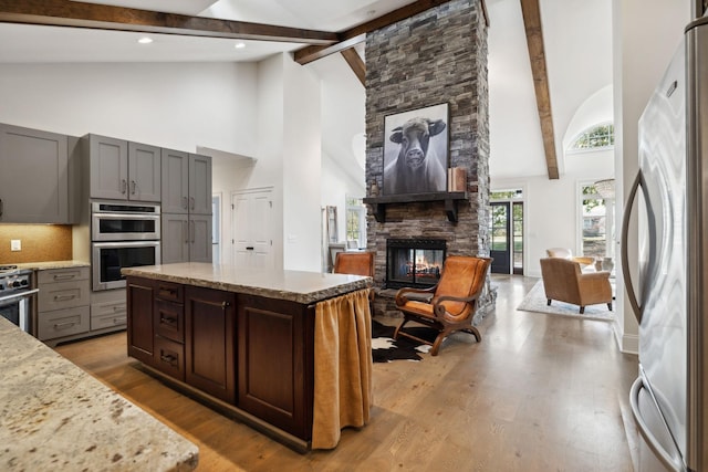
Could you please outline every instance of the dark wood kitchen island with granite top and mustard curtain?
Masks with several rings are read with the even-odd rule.
[[[128,355],[300,452],[371,408],[371,277],[177,263],[123,269]]]

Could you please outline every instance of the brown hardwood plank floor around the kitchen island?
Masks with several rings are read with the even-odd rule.
[[[135,368],[125,333],[56,347],[199,447],[199,471],[632,471],[637,358],[606,322],[519,312],[535,279],[493,276],[482,342],[455,334],[437,357],[374,365],[368,426],[298,454]]]

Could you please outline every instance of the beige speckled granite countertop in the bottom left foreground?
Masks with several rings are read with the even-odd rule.
[[[199,450],[0,316],[0,470],[191,471]]]

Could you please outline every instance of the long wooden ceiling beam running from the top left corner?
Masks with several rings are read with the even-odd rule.
[[[0,22],[316,45],[340,41],[336,33],[325,31],[189,17],[70,0],[0,0]]]

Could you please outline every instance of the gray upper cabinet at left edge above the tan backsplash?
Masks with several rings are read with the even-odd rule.
[[[0,222],[70,221],[70,138],[0,124]]]

